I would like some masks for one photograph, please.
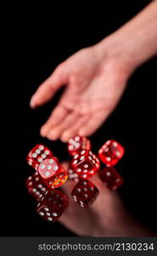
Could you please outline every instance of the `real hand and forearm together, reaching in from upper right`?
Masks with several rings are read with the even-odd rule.
[[[59,104],[42,125],[42,137],[67,142],[89,136],[115,109],[132,72],[157,52],[157,1],[100,43],[81,49],[54,70],[31,98],[31,108],[51,100],[65,85]]]

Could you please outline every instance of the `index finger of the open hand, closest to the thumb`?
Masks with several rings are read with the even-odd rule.
[[[48,121],[42,125],[41,135],[47,137],[48,131],[54,126],[58,125],[67,116],[69,111],[61,105],[54,108],[53,113],[50,115]]]

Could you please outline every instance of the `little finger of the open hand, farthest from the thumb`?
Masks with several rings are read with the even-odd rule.
[[[109,113],[105,112],[105,110],[98,113],[93,113],[93,115],[89,117],[87,124],[81,127],[81,129],[78,131],[78,135],[85,137],[92,135],[93,132],[104,123],[104,120],[107,119],[108,115]]]

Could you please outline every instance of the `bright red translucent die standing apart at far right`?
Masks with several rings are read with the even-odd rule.
[[[115,166],[123,157],[124,148],[115,140],[109,140],[99,149],[98,156],[106,166]]]

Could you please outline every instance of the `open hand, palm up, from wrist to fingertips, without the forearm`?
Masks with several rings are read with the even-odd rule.
[[[109,51],[114,50],[97,45],[81,49],[61,63],[36,90],[31,98],[32,108],[48,102],[65,84],[59,104],[42,126],[43,137],[67,142],[77,134],[89,136],[115,109],[129,73],[126,65],[109,55]]]

